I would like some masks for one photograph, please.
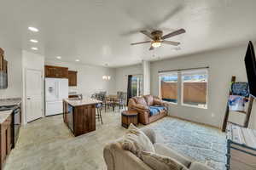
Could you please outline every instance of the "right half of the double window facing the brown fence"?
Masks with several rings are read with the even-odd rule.
[[[206,69],[181,72],[182,105],[207,109],[207,79]]]

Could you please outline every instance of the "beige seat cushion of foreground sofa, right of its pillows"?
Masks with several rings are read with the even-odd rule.
[[[164,144],[155,143],[154,150],[155,150],[155,153],[159,155],[172,157],[173,159],[179,161],[186,167],[189,167],[191,164],[191,161],[188,158],[180,155],[175,150],[172,150],[171,148],[166,147]]]

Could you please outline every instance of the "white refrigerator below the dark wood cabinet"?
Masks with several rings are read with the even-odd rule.
[[[45,78],[45,116],[63,113],[62,99],[67,98],[67,78]]]

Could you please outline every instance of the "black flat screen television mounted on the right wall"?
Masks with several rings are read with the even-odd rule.
[[[256,97],[256,59],[254,54],[253,42],[249,42],[247,54],[244,58],[247,69],[247,80],[249,84],[250,94]]]

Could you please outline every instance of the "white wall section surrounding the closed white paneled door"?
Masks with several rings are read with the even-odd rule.
[[[22,84],[23,84],[23,94],[22,94],[22,122],[26,124],[26,69],[34,69],[42,71],[42,106],[44,116],[44,56],[40,54],[33,54],[25,50],[22,51]]]

